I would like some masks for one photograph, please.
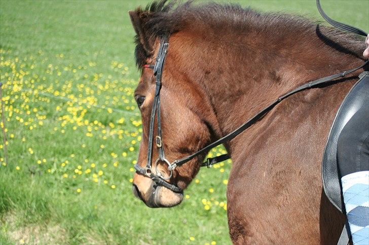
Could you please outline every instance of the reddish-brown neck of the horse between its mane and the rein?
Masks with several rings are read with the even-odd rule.
[[[237,42],[229,41],[234,39],[201,42],[189,39],[188,33],[176,35],[174,39],[180,40],[182,47],[189,44],[191,53],[183,52],[182,48],[176,58],[188,61],[182,70],[190,70],[188,78],[202,90],[208,111],[216,118],[209,120],[216,137],[232,132],[299,85],[362,62],[355,54],[322,45],[323,41],[313,34],[288,38],[284,42],[275,38],[273,43],[264,34],[248,35]],[[194,59],[194,54],[200,54],[198,59]]]

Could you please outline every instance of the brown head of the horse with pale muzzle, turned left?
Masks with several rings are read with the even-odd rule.
[[[191,79],[181,73],[181,65],[186,63],[186,60],[180,59],[178,55],[183,52],[180,50],[180,45],[176,45],[178,38],[171,36],[166,65],[163,69],[160,108],[158,108],[161,114],[162,132],[160,142],[157,142],[158,119],[155,119],[151,154],[149,136],[153,103],[155,103],[156,77],[153,69],[150,68],[154,66],[155,60],[160,55],[161,38],[160,34],[154,33],[155,16],[152,11],[137,9],[130,11],[129,15],[137,34],[135,56],[137,65],[141,69],[141,76],[134,93],[142,118],[142,141],[137,165],[140,169],[150,166],[149,174],[161,175],[164,181],[180,189],[173,191],[158,185],[149,174],[136,172],[133,177],[133,193],[149,207],[172,207],[182,201],[182,190],[190,184],[199,171],[200,163],[206,153],[173,171],[168,167],[174,160],[194,153],[211,142],[213,132],[207,118],[204,117],[206,114],[204,111],[209,112],[211,108],[209,103],[204,103],[202,92]],[[159,158],[159,148],[164,150],[167,161]],[[150,155],[152,155],[151,159]],[[147,163],[148,159],[149,163]]]

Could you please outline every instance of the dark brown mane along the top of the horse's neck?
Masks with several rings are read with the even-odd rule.
[[[318,21],[285,13],[259,13],[238,4],[161,0],[154,1],[145,8],[138,7],[135,11],[145,30],[145,38],[151,43],[164,35],[192,28],[207,30],[207,33],[215,36],[225,33],[230,36],[229,33],[233,33],[233,37],[256,31],[269,39],[278,39],[286,33],[297,37],[315,34],[315,38],[319,36],[325,44],[341,52],[361,57],[363,50],[362,38],[335,28],[320,26]],[[145,51],[138,35],[135,43],[136,65],[142,67],[153,53]]]

